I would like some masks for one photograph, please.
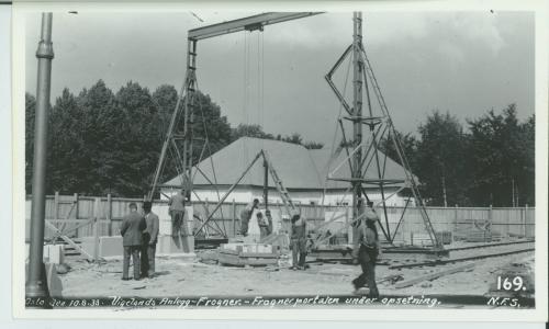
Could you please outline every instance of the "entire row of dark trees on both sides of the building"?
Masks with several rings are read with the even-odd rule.
[[[130,81],[117,92],[99,80],[77,95],[63,90],[49,111],[46,192],[141,197],[149,189],[171,113],[178,99],[172,86],[154,92]],[[213,154],[242,136],[283,140],[306,148],[295,133],[273,135],[259,125],[232,127],[221,107],[206,94],[198,94],[192,129],[193,162],[203,158],[208,135]],[[35,98],[25,94],[25,188],[32,193]],[[534,205],[535,117],[520,122],[516,105],[501,113],[491,110],[463,126],[449,113],[434,111],[413,134],[396,133],[412,172],[419,180],[428,205],[460,206]],[[399,161],[393,143],[380,149]],[[178,172],[172,157],[160,182]]]

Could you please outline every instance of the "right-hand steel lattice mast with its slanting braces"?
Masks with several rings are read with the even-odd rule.
[[[407,208],[408,202],[406,202],[406,206],[402,213],[401,219],[397,223],[394,231],[391,235],[391,229],[389,225],[389,216],[386,212],[386,200],[392,195],[399,193],[404,189],[410,189],[412,195],[416,200],[419,214],[422,216],[423,223],[425,225],[425,229],[433,242],[435,248],[441,248],[440,242],[435,234],[434,227],[430,223],[430,219],[425,209],[425,205],[423,203],[422,196],[417,189],[417,184],[415,182],[415,178],[412,174],[410,163],[404,155],[401,141],[397,138],[396,129],[394,128],[393,122],[389,114],[389,110],[386,109],[385,101],[383,95],[381,94],[381,89],[379,88],[376,76],[373,75],[373,70],[371,68],[370,61],[366,56],[366,52],[362,44],[362,14],[360,12],[355,12],[352,15],[352,44],[344,52],[344,54],[336,61],[334,67],[326,75],[326,81],[329,87],[336,94],[337,99],[341,103],[343,109],[347,112],[347,115],[339,118],[339,126],[341,128],[343,134],[343,145],[346,149],[347,157],[345,161],[348,161],[350,169],[350,178],[335,178],[333,177],[333,172],[328,174],[328,179],[338,180],[338,181],[348,181],[351,184],[352,190],[352,215],[355,220],[359,218],[359,209],[357,207],[358,198],[362,195],[369,200],[368,194],[365,191],[363,184],[376,185],[380,190],[381,201],[379,202],[383,208],[384,215],[384,224],[380,222],[380,228],[383,231],[385,239],[392,243],[396,230],[399,229],[403,218],[404,212]],[[335,83],[332,80],[333,75],[339,68],[341,63],[348,57],[351,56],[352,60],[352,104],[349,105],[347,103],[345,95],[337,89]],[[370,84],[370,86],[369,86]],[[370,97],[370,88],[372,89],[381,113],[376,115],[373,112],[373,104]],[[366,93],[366,103],[368,107],[368,114],[365,115],[362,113],[362,95]],[[345,135],[345,126],[343,124],[343,120],[347,120],[352,124],[352,138],[347,140]],[[362,132],[362,126],[368,126],[368,138],[365,140],[365,135]],[[389,133],[388,133],[389,132]],[[384,159],[381,159],[379,155],[379,143],[385,136],[385,133],[389,134],[386,138],[391,139],[393,146],[399,156],[399,161],[404,168],[403,179],[385,179],[385,164],[386,164],[386,155],[384,155]],[[338,148],[340,150],[341,148]],[[340,168],[343,162],[337,166],[337,169]],[[367,172],[370,166],[374,166],[376,178],[368,178]],[[336,170],[337,170],[336,169]],[[396,192],[386,195],[385,186],[402,184],[402,188],[397,189]]]

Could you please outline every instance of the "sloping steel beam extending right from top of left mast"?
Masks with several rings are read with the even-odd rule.
[[[262,31],[266,25],[316,15],[322,12],[267,12],[254,16],[189,30],[188,38],[199,41],[240,31]]]

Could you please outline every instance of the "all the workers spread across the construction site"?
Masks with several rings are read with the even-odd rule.
[[[189,234],[184,223],[184,195],[180,193],[169,201],[169,212],[172,219],[172,235],[187,236]],[[240,230],[244,237],[248,235],[249,222],[254,211],[259,208],[259,200],[254,198],[251,203],[240,212]],[[256,214],[259,226],[260,238],[272,234],[272,216],[269,209]],[[356,234],[352,248],[354,263],[359,263],[362,273],[352,280],[355,291],[358,292],[365,285],[369,287],[370,297],[379,297],[376,284],[376,262],[380,254],[380,243],[376,222],[379,220],[373,209],[373,203],[358,200],[356,218],[354,220],[354,231]],[[292,270],[305,270],[305,259],[307,253],[306,218],[296,209],[291,212],[291,234],[290,249],[292,250]],[[124,262],[122,280],[130,280],[128,268],[130,258],[133,258],[134,280],[142,277],[153,277],[155,275],[155,253],[158,241],[158,216],[152,212],[152,203],[143,203],[143,214],[137,212],[135,203],[130,204],[130,214],[126,215],[120,227],[123,236]]]

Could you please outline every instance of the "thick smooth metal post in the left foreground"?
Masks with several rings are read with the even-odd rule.
[[[47,121],[49,107],[49,82],[52,77],[52,13],[42,13],[42,35],[36,50],[38,58],[38,79],[36,86],[36,116],[34,128],[34,162],[32,181],[31,247],[29,260],[27,297],[47,295],[43,277],[45,184],[47,154]]]

